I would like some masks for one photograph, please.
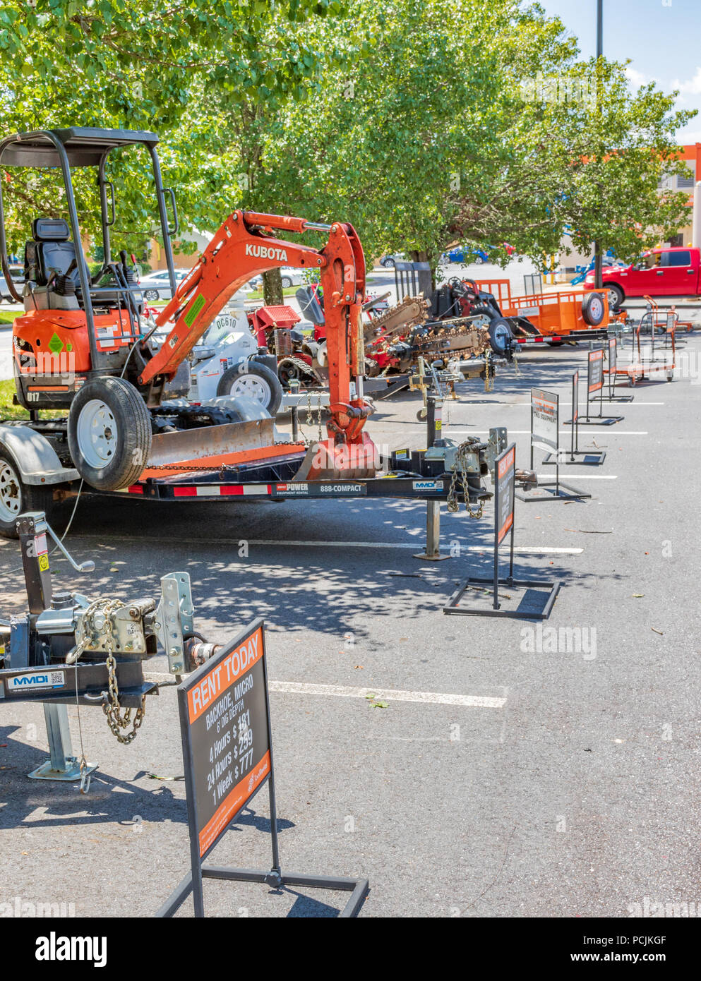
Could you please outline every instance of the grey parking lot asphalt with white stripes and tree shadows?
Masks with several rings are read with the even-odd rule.
[[[542,631],[442,612],[468,571],[489,572],[491,506],[480,521],[442,508],[444,548],[460,553],[426,563],[412,557],[420,503],[85,496],[66,543],[95,572],[57,560],[55,578],[127,599],[184,569],[206,637],[265,618],[283,869],[366,876],[360,915],[625,917],[646,897],[697,901],[700,354],[698,336],[682,338],[672,383],[619,388],[634,395],[620,423],[582,424],[580,448],[606,461],[563,478],[591,499],[516,502],[516,573],[562,583]],[[565,420],[577,368],[584,344],[529,351],[490,392],[458,387],[447,435],[507,426],[526,466],[529,388],[558,391]],[[373,439],[425,445],[418,406],[407,393],[379,402]],[[0,542],[2,613],[25,608],[18,562],[17,543]],[[437,697],[373,707],[339,686]],[[81,709],[81,729],[99,764],[86,797],[27,779],[46,757],[42,710],[0,706],[0,899],[149,915],[189,867],[175,691],[148,699],[129,747],[97,709]],[[259,795],[217,863],[267,867],[267,814]],[[327,916],[344,902],[212,881],[204,895],[227,916]]]

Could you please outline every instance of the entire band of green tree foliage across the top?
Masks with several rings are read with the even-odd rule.
[[[10,0],[0,56],[7,132],[159,132],[185,229],[242,206],[341,219],[370,256],[435,267],[455,241],[542,262],[564,229],[632,257],[686,222],[686,194],[658,182],[682,172],[690,114],[631,92],[624,65],[577,60],[562,22],[518,0]],[[119,247],[155,227],[147,160],[126,157]],[[18,243],[61,211],[55,175],[5,189]],[[96,232],[86,175],[78,194]]]

